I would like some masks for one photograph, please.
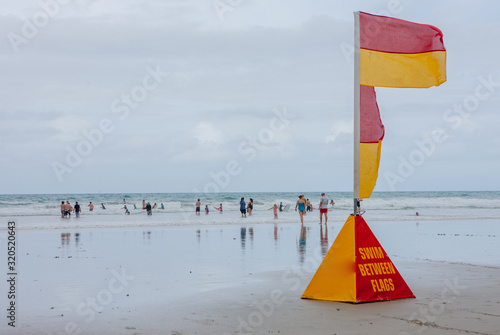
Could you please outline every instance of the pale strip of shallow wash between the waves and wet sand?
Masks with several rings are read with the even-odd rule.
[[[264,214],[265,215],[262,215]],[[272,213],[271,213],[272,214]],[[156,228],[156,227],[216,227],[216,226],[231,226],[245,222],[249,224],[278,224],[278,225],[300,225],[300,219],[296,212],[289,211],[287,213],[279,213],[279,219],[274,219],[268,211],[256,211],[253,216],[241,218],[237,211],[225,211],[224,214],[212,213],[209,215],[202,214],[196,216],[191,212],[161,212],[157,214],[153,212],[152,216],[146,216],[145,213],[136,213],[133,215],[122,214],[104,214],[104,215],[85,215],[82,214],[79,218],[72,217],[70,219],[61,218],[59,215],[19,215],[19,216],[0,216],[0,220],[5,223],[15,221],[17,229],[22,231],[39,231],[39,230],[61,230],[61,229],[126,229],[126,228]],[[350,213],[340,210],[330,210],[329,222],[332,224],[344,223]],[[498,215],[498,216],[497,216]],[[451,213],[443,213],[440,215],[419,216],[407,214],[391,216],[391,213],[365,213],[363,215],[369,223],[420,223],[420,222],[447,222],[447,221],[500,221],[500,212],[498,214],[485,215],[456,215]],[[319,224],[319,211],[313,211],[304,216],[304,224]],[[0,231],[6,231],[7,225],[1,225]]]

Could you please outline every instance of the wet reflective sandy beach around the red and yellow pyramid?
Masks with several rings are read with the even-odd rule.
[[[366,220],[416,299],[300,299],[338,221],[21,230],[16,327],[0,332],[498,334],[496,220]]]

